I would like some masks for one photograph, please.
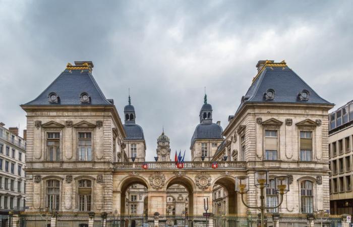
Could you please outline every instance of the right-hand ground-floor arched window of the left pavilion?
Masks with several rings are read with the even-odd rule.
[[[90,211],[92,201],[92,183],[90,180],[79,181],[79,210]]]

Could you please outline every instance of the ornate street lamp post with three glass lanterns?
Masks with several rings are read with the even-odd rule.
[[[265,206],[265,189],[268,186],[268,171],[256,171],[255,172],[255,187],[260,189],[260,206],[249,206],[245,203],[243,194],[249,191],[249,177],[237,177],[236,179],[236,192],[240,193],[242,196],[242,202],[246,207],[251,209],[261,210],[261,227],[264,227],[264,211],[265,209],[273,209],[279,207],[283,202],[283,195],[289,192],[288,177],[276,177],[275,179],[275,189],[280,195],[280,202],[277,206],[267,207]]]

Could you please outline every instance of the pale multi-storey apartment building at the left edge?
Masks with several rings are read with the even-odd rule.
[[[0,226],[6,225],[10,210],[21,211],[26,205],[25,158],[26,141],[19,129],[0,123]]]

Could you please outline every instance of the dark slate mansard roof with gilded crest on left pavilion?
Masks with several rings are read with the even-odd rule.
[[[70,65],[71,66],[71,65]],[[100,90],[91,74],[91,68],[71,66],[61,73],[38,97],[24,105],[113,105]],[[49,93],[58,97],[57,103],[48,101]],[[80,96],[87,93],[90,101],[82,103]]]

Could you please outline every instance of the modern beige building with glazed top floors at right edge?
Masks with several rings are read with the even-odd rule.
[[[353,215],[353,100],[330,114],[330,210]]]

